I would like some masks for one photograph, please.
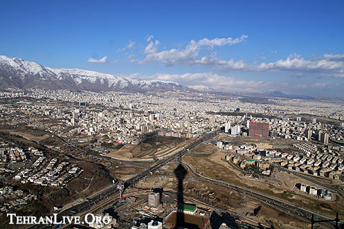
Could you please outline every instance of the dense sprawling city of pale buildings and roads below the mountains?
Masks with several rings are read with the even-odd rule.
[[[0,210],[111,217],[76,228],[306,227],[312,215],[334,219],[328,209],[341,217],[343,107],[192,91],[6,89]],[[293,221],[273,221],[271,210]]]

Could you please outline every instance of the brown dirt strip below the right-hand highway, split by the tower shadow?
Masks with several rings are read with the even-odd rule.
[[[142,188],[151,187],[163,187],[164,191],[177,192],[178,183],[176,179],[172,178],[150,178],[141,181],[138,184]],[[248,219],[260,222],[266,226],[274,226],[275,228],[308,228],[309,223],[299,221],[288,214],[284,214],[279,210],[274,210],[265,205],[259,203],[247,196],[242,196],[233,190],[228,190],[224,187],[218,187],[206,183],[200,183],[197,181],[184,181],[183,182],[183,194],[185,198],[197,199],[203,203],[206,203],[206,207],[212,205],[223,210],[230,210],[237,212]],[[194,202],[196,205],[202,205]],[[257,214],[253,214],[255,209],[260,207]]]

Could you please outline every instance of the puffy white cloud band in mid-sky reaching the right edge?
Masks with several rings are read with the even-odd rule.
[[[278,59],[276,62],[262,62],[248,64],[243,59],[235,61],[217,57],[217,53],[212,51],[215,46],[233,45],[244,42],[247,35],[237,38],[203,38],[197,42],[191,40],[185,48],[172,48],[158,51],[159,41],[152,42],[145,47],[145,59],[139,62],[161,62],[166,66],[188,65],[205,66],[216,71],[294,71],[296,73],[314,74],[318,77],[344,77],[344,54],[325,54],[315,59],[305,59],[294,53],[286,59]],[[151,38],[150,38],[151,39]],[[208,55],[199,56],[199,51],[208,49]],[[271,51],[276,53],[276,51]],[[265,56],[260,57],[266,59]]]

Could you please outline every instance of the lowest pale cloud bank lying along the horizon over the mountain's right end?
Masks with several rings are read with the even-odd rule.
[[[325,95],[337,96],[343,93],[343,84],[328,82],[313,82],[309,84],[298,84],[296,82],[263,82],[260,80],[243,80],[239,77],[226,76],[217,73],[155,73],[153,75],[121,75],[136,80],[162,80],[165,82],[177,82],[190,89],[199,91],[223,91],[241,93],[263,93],[271,90],[282,91],[283,93],[304,94],[304,95]]]

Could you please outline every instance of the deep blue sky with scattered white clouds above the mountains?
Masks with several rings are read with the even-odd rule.
[[[344,97],[344,1],[3,1],[0,55],[196,89]]]

